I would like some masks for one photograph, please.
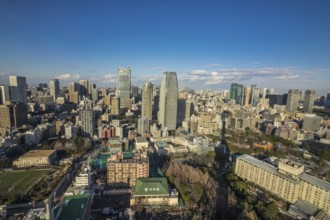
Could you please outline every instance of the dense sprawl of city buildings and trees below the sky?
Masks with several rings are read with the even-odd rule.
[[[0,85],[0,219],[330,219],[330,93],[131,78]]]

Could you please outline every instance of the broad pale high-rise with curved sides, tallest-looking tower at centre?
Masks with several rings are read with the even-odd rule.
[[[175,72],[164,72],[160,87],[159,124],[168,130],[176,129],[178,112],[178,80]]]

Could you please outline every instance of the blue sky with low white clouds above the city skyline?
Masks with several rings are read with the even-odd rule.
[[[58,78],[132,84],[315,89],[330,93],[329,0],[0,0],[0,84]]]

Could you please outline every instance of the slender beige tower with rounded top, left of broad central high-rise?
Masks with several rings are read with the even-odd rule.
[[[146,82],[142,87],[142,114],[141,118],[152,119],[152,91],[153,86]]]

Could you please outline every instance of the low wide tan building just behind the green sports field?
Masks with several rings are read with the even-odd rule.
[[[30,150],[13,161],[16,167],[31,167],[35,165],[50,165],[56,160],[56,150]]]

